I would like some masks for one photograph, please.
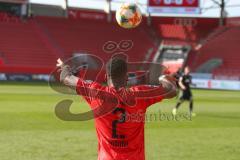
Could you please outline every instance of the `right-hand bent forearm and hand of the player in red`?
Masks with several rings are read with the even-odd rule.
[[[159,83],[163,90],[163,98],[170,99],[177,95],[176,79],[170,75],[159,77]]]

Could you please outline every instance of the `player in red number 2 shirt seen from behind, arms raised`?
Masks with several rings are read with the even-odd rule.
[[[75,87],[93,111],[100,108],[93,113],[98,138],[98,160],[144,160],[146,110],[162,99],[175,97],[174,78],[162,77],[159,86],[127,88],[127,63],[124,59],[112,58],[106,68],[108,86],[102,86],[74,76],[70,67],[61,60],[58,60],[57,66],[61,67],[60,80],[65,85]]]

